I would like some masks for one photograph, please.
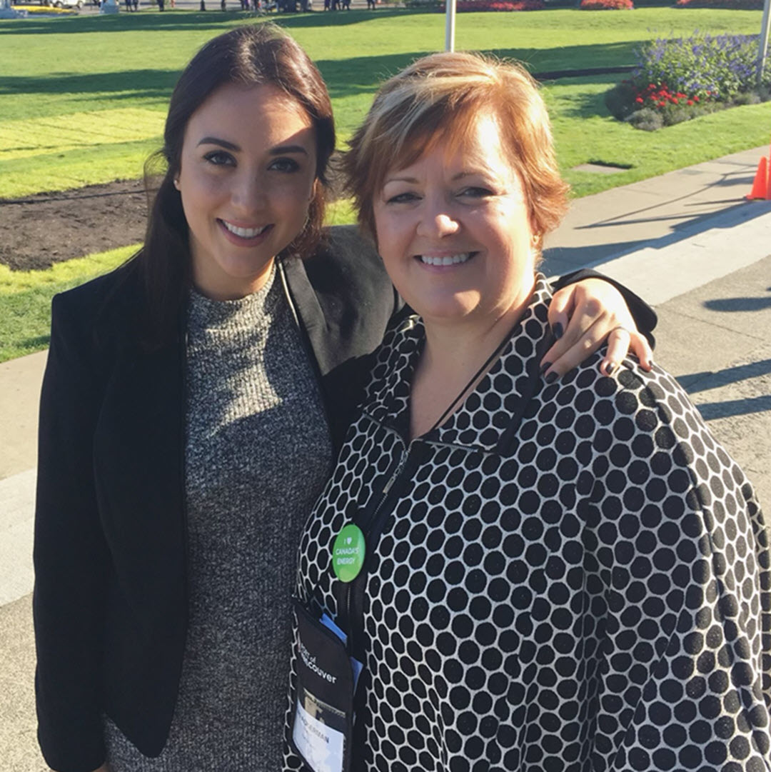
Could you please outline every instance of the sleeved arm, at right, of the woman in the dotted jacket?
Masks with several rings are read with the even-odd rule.
[[[771,576],[752,488],[673,378],[604,381],[596,408],[614,405],[624,440],[587,507],[606,604],[594,753],[614,772],[767,772]]]

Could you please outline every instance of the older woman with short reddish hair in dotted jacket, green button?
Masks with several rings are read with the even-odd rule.
[[[664,371],[539,374],[565,185],[533,80],[421,59],[347,168],[417,315],[301,540],[286,766],[768,770],[749,482]]]

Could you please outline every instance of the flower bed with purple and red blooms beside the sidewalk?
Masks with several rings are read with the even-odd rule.
[[[758,36],[695,33],[658,39],[635,52],[637,68],[605,97],[610,113],[655,130],[704,113],[771,97],[771,68],[756,83]]]

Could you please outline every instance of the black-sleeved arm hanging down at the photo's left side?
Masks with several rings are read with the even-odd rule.
[[[103,542],[93,482],[96,394],[86,351],[90,325],[62,296],[39,423],[33,613],[38,738],[49,766],[91,772],[104,761],[100,699]]]

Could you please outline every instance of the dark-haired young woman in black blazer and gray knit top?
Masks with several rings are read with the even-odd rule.
[[[34,598],[54,770],[280,765],[299,531],[400,305],[371,247],[322,238],[333,147],[293,40],[211,40],[171,98],[144,248],[54,300]],[[583,356],[581,292],[552,372]],[[629,327],[616,306],[588,338]]]

